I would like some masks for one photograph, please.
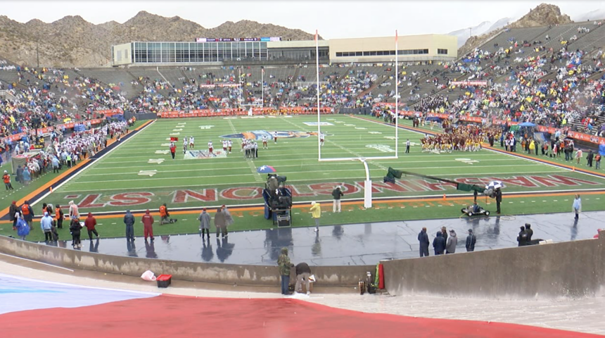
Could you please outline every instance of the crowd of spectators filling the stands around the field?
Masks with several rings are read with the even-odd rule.
[[[589,32],[587,27],[578,27],[573,33]],[[293,66],[280,68],[281,73],[270,68],[262,81],[249,67],[206,71],[184,67],[180,69],[183,76],[173,77],[179,83],[163,76],[140,76],[127,88],[122,82],[105,84],[81,75],[78,69],[22,68],[0,60],[0,72],[17,75],[13,82],[0,82],[11,97],[0,100],[0,137],[114,108],[158,113],[240,104],[310,107],[318,90],[321,106],[363,108],[393,100],[395,85],[409,95],[404,101],[423,113],[496,114],[556,126],[587,121],[580,125],[582,130],[599,133],[605,80],[594,75],[603,70],[602,50],[574,50],[569,43],[573,36],[559,37],[559,47],[553,49],[551,40],[548,36],[533,42],[511,37],[506,46],[473,49],[459,61],[402,63],[396,79],[390,75],[393,68],[384,67],[389,65],[322,67],[319,89],[305,75],[295,76],[294,69],[284,71]],[[347,69],[343,72],[337,67]],[[452,84],[460,80],[485,80],[488,85]]]

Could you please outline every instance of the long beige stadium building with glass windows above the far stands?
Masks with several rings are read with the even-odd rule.
[[[457,58],[457,37],[410,35],[399,37],[400,61],[450,61]],[[300,63],[315,61],[315,42],[279,38],[199,38],[195,42],[130,42],[111,46],[112,64],[222,65],[224,63]],[[395,61],[395,37],[319,41],[322,63]]]

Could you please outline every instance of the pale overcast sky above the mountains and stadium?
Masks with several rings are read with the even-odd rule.
[[[319,30],[324,39],[447,33],[520,18],[530,8],[547,2],[573,19],[605,10],[605,1],[4,1],[0,14],[25,23],[33,18],[46,23],[65,15],[80,15],[91,23],[124,23],[139,11],[194,21],[211,28],[225,21],[254,20],[306,32]],[[601,12],[602,13],[602,12]],[[605,16],[605,15],[604,15]]]

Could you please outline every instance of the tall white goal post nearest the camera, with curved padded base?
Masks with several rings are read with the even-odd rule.
[[[360,161],[364,165],[366,177],[364,182],[364,208],[372,206],[372,181],[368,168],[367,161],[371,160],[393,160],[399,158],[399,59],[398,59],[398,43],[397,30],[395,30],[395,156],[357,156],[357,157],[339,157],[339,158],[322,158],[321,157],[321,109],[319,104],[319,40],[317,30],[315,30],[315,63],[316,63],[316,79],[317,79],[317,161],[319,162],[336,162],[336,161]]]

